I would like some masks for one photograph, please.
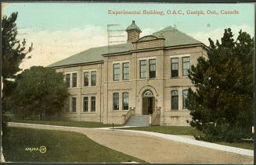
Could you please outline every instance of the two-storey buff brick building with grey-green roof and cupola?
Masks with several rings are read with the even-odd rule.
[[[152,35],[135,22],[125,44],[93,47],[49,65],[63,72],[70,98],[63,118],[124,124],[132,115],[150,115],[160,125],[189,125],[185,100],[197,58],[207,57],[200,41],[168,26]]]

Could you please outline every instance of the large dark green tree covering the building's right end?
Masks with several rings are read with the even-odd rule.
[[[209,38],[207,59],[198,58],[189,70],[195,89],[189,89],[190,125],[210,141],[240,141],[251,137],[254,98],[254,38],[230,29],[219,41]]]

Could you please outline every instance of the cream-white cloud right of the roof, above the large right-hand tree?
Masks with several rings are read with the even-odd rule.
[[[201,42],[203,42],[204,44],[206,44],[208,46],[209,45],[208,38],[210,37],[211,40],[213,40],[213,41],[220,40],[223,37],[223,33],[226,28],[227,27],[220,27],[215,30],[197,32],[197,33],[188,33],[188,34],[189,34],[189,36],[194,37],[197,40],[200,40]],[[252,26],[248,26],[248,25],[230,26],[230,28],[234,34],[234,38],[237,37],[238,32],[240,30],[245,31],[245,32],[249,33],[251,35],[251,37],[254,37],[254,28]]]

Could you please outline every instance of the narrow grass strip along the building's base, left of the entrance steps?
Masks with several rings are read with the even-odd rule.
[[[92,122],[92,121],[37,121],[37,120],[13,119],[12,122],[31,123],[31,124],[38,124],[38,125],[60,125],[60,126],[83,127],[83,128],[112,127],[111,124],[103,124],[101,122]],[[121,125],[114,125],[114,126],[116,127]]]

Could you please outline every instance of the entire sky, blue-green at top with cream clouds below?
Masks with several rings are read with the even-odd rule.
[[[159,14],[109,14],[111,11],[150,10]],[[182,11],[184,14],[168,14]],[[221,11],[238,11],[222,14]],[[189,12],[193,12],[190,14]],[[218,12],[207,14],[207,11]],[[2,15],[18,12],[18,38],[33,43],[32,58],[23,61],[21,68],[32,65],[47,66],[90,47],[107,45],[107,25],[125,30],[135,20],[141,36],[175,26],[183,33],[208,45],[208,37],[220,39],[225,28],[234,34],[240,29],[254,36],[254,4],[170,4],[170,3],[5,3]],[[197,14],[204,12],[204,15]],[[121,34],[126,35],[125,32]],[[236,37],[237,35],[235,35]],[[113,38],[112,38],[113,39]],[[114,39],[117,40],[117,39]],[[118,38],[118,40],[126,40]]]

